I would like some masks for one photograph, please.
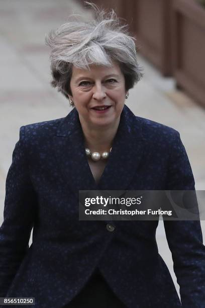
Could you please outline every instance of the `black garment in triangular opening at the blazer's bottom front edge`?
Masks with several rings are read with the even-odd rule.
[[[98,269],[95,269],[86,285],[64,308],[126,308],[115,295]]]

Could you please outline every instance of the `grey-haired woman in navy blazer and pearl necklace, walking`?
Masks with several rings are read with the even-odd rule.
[[[158,221],[79,221],[79,190],[194,190],[179,133],[125,105],[141,78],[112,12],[52,31],[52,85],[73,110],[23,126],[6,183],[0,295],[43,307],[178,307]],[[164,221],[183,307],[205,302],[199,221]],[[33,227],[33,243],[29,238]]]

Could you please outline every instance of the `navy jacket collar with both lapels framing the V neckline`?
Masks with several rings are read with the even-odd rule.
[[[61,172],[75,194],[79,190],[126,190],[142,158],[141,121],[124,106],[112,151],[98,185],[87,162],[76,109],[62,119],[54,145]]]

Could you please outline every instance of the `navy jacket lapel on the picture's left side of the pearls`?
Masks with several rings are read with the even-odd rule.
[[[83,142],[83,133],[76,109],[73,109],[58,128],[54,148],[61,173],[69,188],[78,195],[79,190],[96,190]]]

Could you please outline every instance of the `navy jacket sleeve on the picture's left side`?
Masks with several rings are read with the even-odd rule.
[[[29,249],[36,196],[29,176],[25,127],[20,128],[6,180],[4,222],[0,228],[0,297],[5,297]]]

